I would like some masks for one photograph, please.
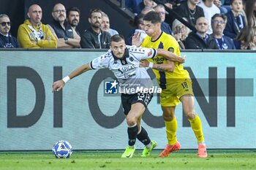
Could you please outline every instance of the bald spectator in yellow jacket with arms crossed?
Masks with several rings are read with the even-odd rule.
[[[27,13],[29,19],[18,28],[18,41],[23,48],[56,48],[57,41],[50,29],[42,24],[42,8],[32,4]]]

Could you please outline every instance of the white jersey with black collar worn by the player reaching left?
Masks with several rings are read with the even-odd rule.
[[[117,58],[112,50],[90,62],[91,69],[110,69],[118,79],[121,88],[151,88],[153,83],[146,71],[140,67],[140,60],[154,58],[157,50],[127,45],[123,58]],[[124,93],[132,93],[124,90]],[[134,92],[133,92],[134,93]]]

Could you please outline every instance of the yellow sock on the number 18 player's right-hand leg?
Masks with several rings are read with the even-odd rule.
[[[202,123],[200,117],[195,115],[195,119],[189,120],[192,130],[197,138],[197,142],[204,142]]]

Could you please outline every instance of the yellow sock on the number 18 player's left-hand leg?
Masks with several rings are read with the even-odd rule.
[[[176,117],[172,121],[165,121],[168,144],[173,145],[177,142],[176,131],[178,128]]]

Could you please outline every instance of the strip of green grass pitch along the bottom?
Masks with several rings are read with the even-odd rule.
[[[0,152],[0,169],[256,169],[256,150],[208,150],[208,158],[197,158],[197,150],[173,152],[168,158],[158,158],[161,150],[154,150],[148,158],[140,158],[141,152],[136,150],[132,158],[120,158],[120,150],[74,151],[69,159],[56,159],[50,151]]]

